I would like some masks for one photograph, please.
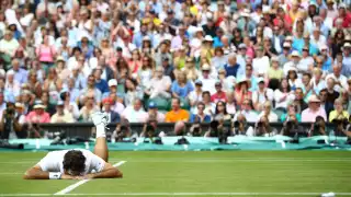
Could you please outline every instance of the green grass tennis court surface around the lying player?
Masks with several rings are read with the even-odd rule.
[[[1,152],[0,196],[52,196],[79,181],[24,181],[46,152]],[[122,179],[67,196],[351,196],[350,151],[111,152]]]

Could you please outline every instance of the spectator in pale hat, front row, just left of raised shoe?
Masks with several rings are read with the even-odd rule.
[[[84,105],[79,111],[79,120],[80,121],[91,121],[91,115],[100,111],[99,105],[97,104],[94,93],[89,92],[84,96]]]

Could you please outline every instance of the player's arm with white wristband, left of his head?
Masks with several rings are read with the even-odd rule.
[[[29,169],[24,175],[24,179],[78,179],[78,177],[56,172],[43,171],[39,165]]]

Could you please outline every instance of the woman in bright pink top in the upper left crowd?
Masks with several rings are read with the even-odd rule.
[[[44,35],[43,43],[35,50],[37,59],[47,73],[48,69],[54,66],[56,50],[54,46],[49,45],[48,35]]]

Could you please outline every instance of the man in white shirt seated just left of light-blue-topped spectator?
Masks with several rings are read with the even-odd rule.
[[[170,77],[163,76],[163,68],[157,67],[155,70],[154,78],[150,81],[150,86],[145,91],[146,94],[150,96],[150,99],[162,97],[170,99],[170,88],[172,85],[172,81]]]

